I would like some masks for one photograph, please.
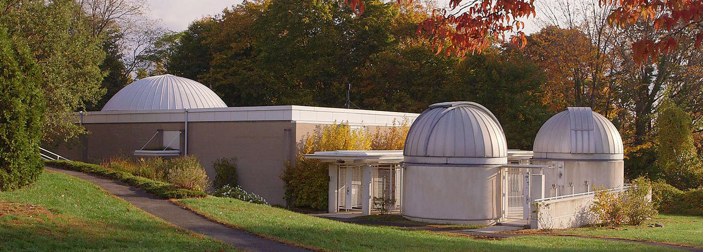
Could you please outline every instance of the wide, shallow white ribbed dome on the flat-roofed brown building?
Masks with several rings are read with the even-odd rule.
[[[195,80],[157,75],[136,80],[105,103],[103,111],[226,108],[212,90]]]

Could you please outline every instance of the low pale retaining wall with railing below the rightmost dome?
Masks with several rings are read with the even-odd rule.
[[[630,187],[609,189],[624,191]],[[595,224],[588,208],[595,200],[595,191],[565,196],[536,199],[530,206],[531,229],[565,229]]]

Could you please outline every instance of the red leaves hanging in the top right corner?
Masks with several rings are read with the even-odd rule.
[[[690,27],[703,28],[703,0],[600,0],[601,5],[613,3],[618,7],[608,16],[610,23],[626,27],[638,20],[648,20],[653,21],[654,29],[667,32],[657,41],[643,39],[632,45],[633,59],[638,64],[654,61],[659,53],[676,49],[678,42],[674,35]],[[695,36],[695,46],[700,48],[703,32]]]

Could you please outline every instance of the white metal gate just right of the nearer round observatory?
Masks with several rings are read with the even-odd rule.
[[[503,218],[527,220],[526,191],[529,191],[529,168],[503,168]]]

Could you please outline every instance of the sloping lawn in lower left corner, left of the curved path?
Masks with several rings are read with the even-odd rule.
[[[236,251],[49,171],[29,187],[0,192],[0,244],[0,251]]]

